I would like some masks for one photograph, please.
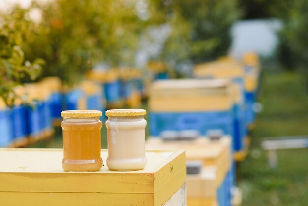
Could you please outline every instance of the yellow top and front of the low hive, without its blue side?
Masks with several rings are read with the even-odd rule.
[[[232,164],[231,138],[216,141],[197,138],[190,141],[164,141],[150,138],[147,149],[185,149],[187,161],[202,161],[200,174],[187,175],[187,205],[217,206],[217,188],[222,184]]]

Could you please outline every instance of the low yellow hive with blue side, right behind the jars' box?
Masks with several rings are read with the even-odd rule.
[[[234,164],[231,138],[150,138],[147,149],[185,149],[187,159],[187,205],[231,206]]]

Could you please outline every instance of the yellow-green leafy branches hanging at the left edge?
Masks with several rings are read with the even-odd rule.
[[[10,106],[16,98],[14,87],[26,76],[31,80],[37,78],[44,65],[42,59],[25,59],[22,49],[33,27],[34,23],[25,18],[22,10],[0,14],[0,97]]]

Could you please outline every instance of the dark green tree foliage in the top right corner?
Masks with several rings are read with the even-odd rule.
[[[287,69],[308,64],[308,0],[279,1],[272,9],[283,23],[278,31],[278,60]]]

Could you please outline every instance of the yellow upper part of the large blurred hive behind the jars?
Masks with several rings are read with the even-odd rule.
[[[149,108],[153,112],[229,110],[231,82],[223,79],[161,80],[152,84]]]

